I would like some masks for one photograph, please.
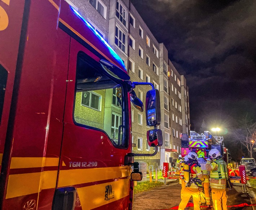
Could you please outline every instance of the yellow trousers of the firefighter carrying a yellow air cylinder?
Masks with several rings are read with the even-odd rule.
[[[200,191],[199,189],[190,187],[185,187],[178,210],[184,210],[186,208],[191,195],[193,196],[194,210],[200,210]]]

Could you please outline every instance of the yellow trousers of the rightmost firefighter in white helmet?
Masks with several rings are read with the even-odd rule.
[[[227,210],[228,196],[226,189],[212,188],[212,202],[214,210]]]

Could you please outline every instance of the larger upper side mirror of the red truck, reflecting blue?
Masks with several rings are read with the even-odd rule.
[[[160,98],[157,89],[149,90],[146,94],[146,122],[147,126],[160,125]]]

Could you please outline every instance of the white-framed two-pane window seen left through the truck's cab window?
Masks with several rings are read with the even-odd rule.
[[[82,106],[101,111],[100,103],[101,103],[101,95],[98,95],[97,93],[91,92],[91,91],[82,92],[82,100],[81,100]]]

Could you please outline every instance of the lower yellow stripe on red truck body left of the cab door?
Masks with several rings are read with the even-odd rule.
[[[58,171],[11,174],[8,179],[6,199],[38,193],[41,190],[55,188]]]

